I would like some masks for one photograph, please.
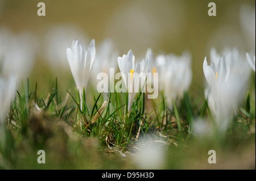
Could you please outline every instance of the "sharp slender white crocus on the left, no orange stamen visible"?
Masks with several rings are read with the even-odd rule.
[[[95,54],[96,50],[94,40],[90,42],[88,51],[82,47],[78,40],[73,40],[71,48],[67,48],[69,66],[75,80],[77,90],[80,92],[80,99],[82,98],[83,89],[86,90]]]

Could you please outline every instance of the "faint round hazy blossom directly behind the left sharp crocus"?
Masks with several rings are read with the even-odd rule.
[[[70,46],[73,39],[79,40],[84,47],[89,45],[89,40],[85,33],[79,28],[68,24],[53,26],[44,35],[41,57],[43,60],[48,61],[55,72],[69,69],[66,54],[63,52]]]

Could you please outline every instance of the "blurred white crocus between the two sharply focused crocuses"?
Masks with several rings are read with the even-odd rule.
[[[106,73],[108,74],[108,77],[110,77],[110,69],[116,71],[118,55],[118,50],[114,49],[112,39],[107,38],[101,42],[97,48],[97,54],[92,68],[92,75],[90,76],[94,87],[96,87],[99,82],[99,80],[97,80],[98,73]],[[108,94],[107,92],[104,92],[104,99],[106,100],[107,98]]]

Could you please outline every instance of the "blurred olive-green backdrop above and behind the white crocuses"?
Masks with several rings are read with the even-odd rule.
[[[39,2],[46,4],[46,16],[37,15]],[[208,16],[209,2],[216,3],[217,16]],[[49,69],[52,65],[47,57],[42,56],[46,54],[45,47],[49,47],[45,40],[51,28],[68,26],[82,32],[87,45],[95,39],[96,48],[110,37],[119,56],[132,49],[135,61],[144,56],[147,48],[152,48],[155,55],[189,50],[193,72],[191,90],[201,94],[198,88],[204,87],[203,60],[209,57],[211,47],[218,51],[226,46],[237,47],[255,54],[255,35],[251,37],[242,25],[243,6],[253,8],[255,15],[254,0],[0,0],[0,28],[7,27],[14,34],[27,31],[35,37],[36,62],[30,79],[38,82],[39,90],[51,89],[55,77],[64,91],[75,87],[71,71],[61,68],[61,64],[67,64],[65,51],[63,63],[53,69]],[[255,22],[252,26],[255,32]],[[75,35],[73,38],[79,39]],[[69,46],[71,43],[72,40]]]

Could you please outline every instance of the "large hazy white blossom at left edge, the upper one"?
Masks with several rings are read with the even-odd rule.
[[[7,28],[0,30],[0,65],[4,77],[26,79],[34,66],[38,43],[30,32],[13,34]]]

